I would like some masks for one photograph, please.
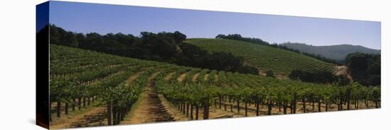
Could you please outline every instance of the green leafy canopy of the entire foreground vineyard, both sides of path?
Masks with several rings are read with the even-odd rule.
[[[136,73],[139,73],[138,77],[129,83],[128,79]],[[153,73],[157,75],[151,78]],[[178,77],[183,73],[186,73],[186,77],[179,82]],[[193,81],[196,73],[198,78]],[[378,86],[365,87],[358,83],[347,86],[320,85],[279,80],[50,45],[52,102],[72,102],[73,98],[96,96],[102,100],[102,104],[112,104],[112,107],[126,110],[139,98],[149,80],[154,81],[154,90],[174,104],[208,104],[220,97],[238,102],[268,102],[269,105],[295,104],[301,100],[340,105],[349,100],[371,100],[378,107],[381,101]]]

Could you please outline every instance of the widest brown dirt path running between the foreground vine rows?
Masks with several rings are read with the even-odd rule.
[[[158,94],[154,91],[154,78],[159,72],[152,74],[148,79],[146,91],[138,101],[138,105],[124,119],[121,124],[144,124],[151,122],[172,122],[171,114],[168,114]],[[137,103],[137,102],[136,102]]]

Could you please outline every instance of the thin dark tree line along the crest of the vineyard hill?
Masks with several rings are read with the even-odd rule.
[[[254,44],[257,44],[257,45],[266,45],[266,46],[269,46],[269,47],[284,49],[284,50],[287,50],[287,51],[290,51],[290,52],[296,52],[296,53],[299,53],[299,54],[304,54],[307,57],[312,57],[312,58],[318,59],[320,61],[325,61],[325,62],[332,63],[332,64],[340,64],[340,63],[338,63],[334,59],[328,59],[326,57],[322,57],[319,54],[309,54],[307,52],[300,52],[298,49],[291,49],[291,48],[285,47],[283,45],[277,45],[277,43],[269,44],[269,42],[265,42],[264,40],[261,40],[259,38],[242,37],[242,35],[239,35],[239,34],[229,34],[229,35],[222,35],[222,34],[220,34],[220,35],[217,35],[215,38],[217,38],[217,39],[223,38],[223,39],[228,39],[228,40],[240,40],[240,41],[254,43]]]

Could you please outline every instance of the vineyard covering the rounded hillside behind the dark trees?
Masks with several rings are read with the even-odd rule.
[[[255,66],[261,71],[272,70],[282,76],[287,76],[294,69],[334,71],[336,66],[306,57],[304,54],[237,40],[197,38],[186,40],[186,42],[209,52],[230,52],[236,56],[244,57],[246,64]]]

